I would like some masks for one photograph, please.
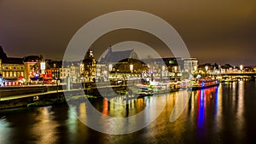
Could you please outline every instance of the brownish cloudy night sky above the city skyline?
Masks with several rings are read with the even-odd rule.
[[[256,65],[255,0],[0,0],[0,45],[9,56],[61,60],[81,26],[117,10],[145,11],[166,20],[200,63]],[[147,43],[162,57],[172,57],[156,37],[136,30],[109,32],[92,49],[99,57],[108,45],[127,40]]]

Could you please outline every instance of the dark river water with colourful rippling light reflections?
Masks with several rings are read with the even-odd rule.
[[[91,101],[103,115],[131,117],[139,112],[152,113],[150,107],[166,105],[153,123],[142,130],[110,135],[93,130],[88,120],[87,103],[78,102],[0,111],[0,144],[9,143],[256,143],[256,83],[234,82],[210,89],[193,91],[181,115],[172,123],[170,116],[177,96],[184,91],[129,100],[124,98]],[[147,119],[147,118],[145,118]],[[102,127],[110,130],[105,118]],[[129,125],[123,125],[127,129]]]

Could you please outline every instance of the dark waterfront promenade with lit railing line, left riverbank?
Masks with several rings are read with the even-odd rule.
[[[72,84],[71,89],[67,89],[66,84],[2,87],[0,89],[0,109],[26,106],[31,102],[44,99],[63,100],[65,95],[95,95],[98,93],[98,89],[108,94],[109,89],[122,90],[126,87],[127,85],[109,85],[106,83],[97,85],[93,83]]]

